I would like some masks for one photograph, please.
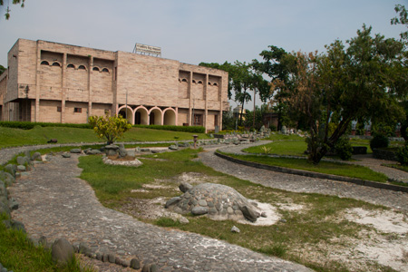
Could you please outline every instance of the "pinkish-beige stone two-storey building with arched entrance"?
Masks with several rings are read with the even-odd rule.
[[[19,39],[0,75],[2,121],[84,123],[109,112],[212,131],[228,107],[228,73],[140,53]]]

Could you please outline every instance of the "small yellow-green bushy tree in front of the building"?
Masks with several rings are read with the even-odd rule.
[[[131,129],[131,124],[121,115],[90,116],[89,123],[98,138],[104,138],[107,144],[112,144],[121,138],[124,132]]]

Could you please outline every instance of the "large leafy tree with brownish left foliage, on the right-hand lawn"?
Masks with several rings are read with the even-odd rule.
[[[383,121],[403,115],[407,93],[403,43],[371,35],[363,25],[357,36],[326,45],[326,53],[294,53],[296,69],[283,84],[290,110],[309,127],[309,160],[318,163],[354,120]]]

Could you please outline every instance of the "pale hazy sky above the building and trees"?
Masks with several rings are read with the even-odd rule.
[[[160,46],[182,63],[250,62],[273,44],[286,51],[324,51],[363,24],[398,37],[393,7],[408,0],[25,0],[0,6],[0,64],[18,38],[131,52]],[[234,104],[232,103],[234,106]]]

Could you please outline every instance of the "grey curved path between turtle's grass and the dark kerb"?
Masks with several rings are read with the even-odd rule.
[[[262,141],[256,144],[264,143]],[[308,178],[271,170],[256,169],[219,158],[214,154],[214,151],[217,149],[222,149],[222,151],[229,153],[242,153],[242,146],[212,148],[207,152],[199,154],[199,159],[207,166],[242,180],[249,180],[276,189],[360,199],[393,209],[408,210],[408,193],[364,187],[343,181]],[[374,163],[373,160],[371,161]],[[406,173],[403,174],[406,175]]]

